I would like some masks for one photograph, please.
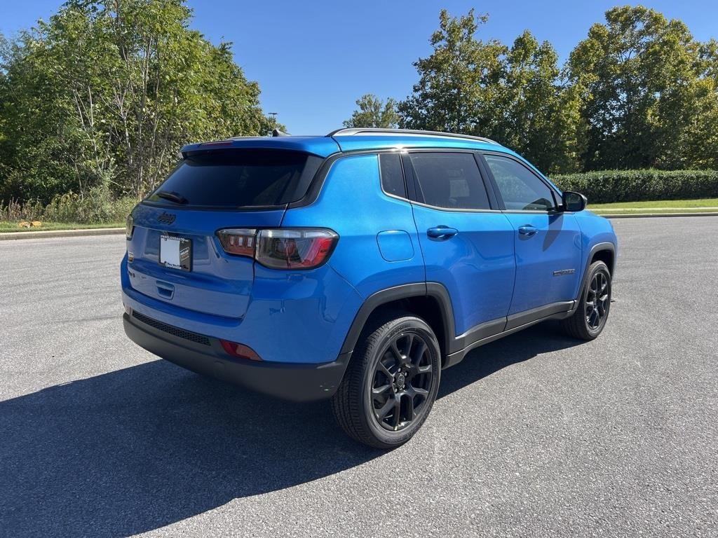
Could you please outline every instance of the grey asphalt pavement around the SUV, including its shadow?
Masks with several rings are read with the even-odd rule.
[[[718,536],[718,217],[613,222],[604,334],[477,349],[391,453],[126,339],[122,237],[0,242],[0,536]]]

